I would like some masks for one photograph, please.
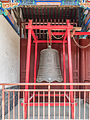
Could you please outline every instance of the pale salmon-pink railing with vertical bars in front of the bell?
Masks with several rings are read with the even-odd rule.
[[[23,86],[24,88],[25,85],[28,85],[29,89],[12,89],[10,87]],[[34,85],[36,89],[34,89]],[[67,89],[64,89],[65,85]],[[73,86],[79,86],[79,89],[73,90],[70,89],[70,85],[70,83],[0,84],[2,86],[2,119],[24,119],[25,104],[28,106],[27,119],[71,119],[72,104],[74,104],[74,119],[90,119],[90,89],[85,89],[85,86],[89,87],[90,84],[73,83]],[[6,86],[9,88],[5,88]],[[70,100],[72,91],[73,103]],[[28,103],[24,103],[25,92],[28,92]],[[6,93],[8,94],[7,98]],[[8,106],[6,106],[6,101],[8,101]]]

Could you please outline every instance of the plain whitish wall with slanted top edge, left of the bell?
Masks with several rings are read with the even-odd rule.
[[[20,37],[0,15],[0,83],[20,81]]]

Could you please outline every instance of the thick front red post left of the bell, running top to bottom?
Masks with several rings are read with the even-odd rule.
[[[32,21],[29,21],[28,26],[31,26]],[[29,83],[29,74],[30,74],[30,56],[31,56],[31,29],[28,29],[28,43],[27,43],[27,61],[26,61],[26,81]],[[28,89],[28,85],[25,86],[25,89]],[[27,103],[28,103],[28,92],[25,92],[24,98],[24,119],[27,118]]]

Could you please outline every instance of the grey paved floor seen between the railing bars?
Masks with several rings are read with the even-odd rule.
[[[76,100],[77,103],[79,103],[78,99]],[[80,100],[80,119],[84,119],[84,104],[83,104],[83,100]],[[63,116],[64,116],[64,107],[61,106],[61,113],[60,113],[60,117],[63,120]],[[59,119],[59,107],[56,106],[55,107],[55,119]],[[89,118],[89,106],[88,103],[86,103],[85,105],[85,119]],[[40,119],[43,119],[43,107],[40,107]],[[8,118],[8,114],[6,114],[5,118]],[[10,112],[10,118],[13,118],[13,110]],[[18,105],[15,107],[15,119],[18,118]],[[23,119],[23,107],[20,106],[20,118]],[[50,118],[51,120],[54,119],[54,107],[50,108]],[[69,107],[65,107],[65,118],[68,120],[69,119]],[[30,107],[30,120],[33,119],[33,107]],[[38,107],[35,107],[35,120],[38,119]],[[45,119],[48,119],[48,107],[45,107]],[[60,120],[61,120],[60,119]],[[76,106],[75,108],[75,119],[79,119],[79,104]],[[89,119],[88,119],[89,120]]]

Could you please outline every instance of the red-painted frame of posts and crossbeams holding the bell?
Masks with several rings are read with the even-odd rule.
[[[29,20],[28,25],[26,25],[26,29],[28,29],[28,44],[27,44],[26,81],[25,81],[25,83],[29,83],[30,57],[31,57],[31,36],[34,38],[33,43],[35,43],[34,83],[36,83],[37,46],[39,43],[47,43],[47,40],[38,40],[38,37],[35,35],[34,30],[35,29],[48,30],[48,35],[49,35],[48,43],[57,43],[57,44],[60,43],[63,45],[64,83],[66,83],[65,44],[67,44],[67,47],[68,47],[69,83],[71,83],[70,84],[71,117],[72,117],[72,119],[74,119],[74,95],[73,95],[73,85],[72,85],[73,73],[72,73],[71,32],[70,32],[73,29],[73,26],[70,25],[69,20],[67,20],[66,23],[67,23],[66,25],[50,25],[50,23],[48,23],[47,25],[32,25],[32,20]],[[53,35],[63,35],[64,36],[63,40],[52,40],[51,41],[51,36],[52,36],[51,30],[65,30],[65,32],[52,32]],[[90,35],[90,32],[73,32],[73,35]],[[29,89],[29,86],[25,85],[25,89]],[[36,89],[35,85],[34,85],[34,89]],[[66,89],[66,86],[64,86],[64,89]],[[50,91],[48,94],[50,94]],[[62,95],[62,96],[64,96],[64,95]],[[35,97],[33,99],[35,99]],[[50,101],[50,98],[49,98],[49,101]],[[26,119],[27,118],[27,107],[28,107],[28,91],[25,92],[24,104],[25,104],[24,105],[24,118]],[[33,105],[33,104],[30,104],[30,105]],[[37,106],[36,103],[34,105]],[[42,104],[40,104],[40,105],[42,106]],[[54,103],[52,103],[52,106],[53,105],[54,105]],[[59,105],[59,103],[58,103],[58,105]],[[64,105],[64,103],[62,105]],[[77,105],[77,104],[75,104],[75,105]],[[48,103],[46,103],[45,106],[48,106]],[[69,103],[66,103],[65,106],[69,106]],[[50,120],[50,116],[48,117],[48,119]]]

